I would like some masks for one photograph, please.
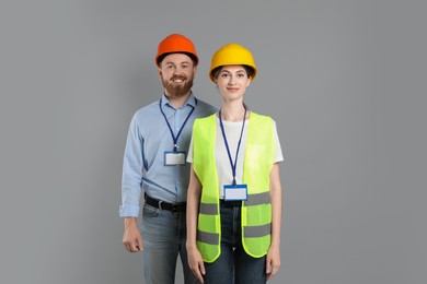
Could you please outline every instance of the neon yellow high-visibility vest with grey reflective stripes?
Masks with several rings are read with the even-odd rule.
[[[215,119],[215,115],[199,118],[193,126],[193,167],[201,182],[197,247],[206,262],[214,262],[221,253]],[[247,200],[242,202],[241,226],[243,248],[254,258],[265,256],[272,241],[269,173],[276,152],[273,133],[270,117],[251,113],[243,163],[243,184],[247,185]]]

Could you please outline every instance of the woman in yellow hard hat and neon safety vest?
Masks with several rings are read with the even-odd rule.
[[[256,71],[250,50],[221,47],[209,71],[221,108],[194,123],[186,247],[201,283],[265,283],[280,265],[284,158],[276,123],[243,102]]]

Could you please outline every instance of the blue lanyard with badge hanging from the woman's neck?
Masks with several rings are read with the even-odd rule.
[[[236,171],[235,168],[238,166],[238,156],[239,156],[240,144],[242,142],[242,137],[243,137],[244,121],[246,120],[246,107],[244,108],[243,125],[242,125],[242,130],[240,132],[238,147],[235,150],[235,161],[234,162],[231,157],[230,146],[229,146],[229,143],[227,141],[226,130],[224,130],[223,125],[222,125],[221,109],[219,110],[218,116],[219,116],[219,122],[221,126],[223,142],[226,144],[227,153],[228,153],[229,159],[230,159],[231,170],[233,174],[233,182],[231,185],[223,186],[223,199],[226,201],[247,200],[247,185],[244,185],[244,184],[238,185],[235,181],[235,171]]]

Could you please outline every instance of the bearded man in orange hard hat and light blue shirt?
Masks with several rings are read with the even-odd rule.
[[[146,283],[174,283],[177,256],[185,283],[197,283],[188,268],[186,164],[193,122],[217,111],[192,92],[198,57],[192,40],[180,34],[165,37],[155,56],[164,93],[137,110],[131,119],[123,166],[123,244],[130,252],[142,251]],[[137,225],[142,189],[141,233]]]

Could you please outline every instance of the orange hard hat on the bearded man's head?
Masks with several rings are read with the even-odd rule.
[[[162,59],[169,54],[185,54],[193,59],[195,66],[198,64],[198,57],[193,42],[183,35],[172,34],[160,42],[155,56],[155,64],[159,66]]]

